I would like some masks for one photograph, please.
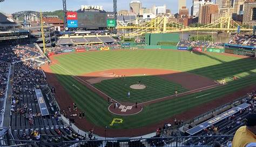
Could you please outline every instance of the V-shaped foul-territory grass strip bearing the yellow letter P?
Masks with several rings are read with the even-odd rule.
[[[63,69],[57,68],[63,72]],[[199,93],[186,95],[184,97],[166,100],[143,108],[143,112],[132,116],[119,116],[113,115],[108,112],[107,107],[109,106],[103,98],[99,95],[88,90],[84,85],[80,84],[76,79],[71,76],[57,75],[60,83],[64,85],[65,89],[73,100],[78,104],[78,107],[86,112],[86,119],[96,124],[97,126],[108,126],[113,118],[122,118],[124,123],[120,125],[109,126],[110,128],[116,129],[129,129],[145,127],[149,124],[157,123],[161,120],[167,119],[173,115],[188,111],[189,109],[211,102],[214,99],[220,98],[225,94],[233,93],[242,87],[250,84],[255,84],[256,76],[251,78],[245,78],[238,80],[237,82],[230,82],[228,85],[218,87]],[[77,90],[72,86],[75,84],[80,90]],[[206,95],[199,97],[200,95]]]

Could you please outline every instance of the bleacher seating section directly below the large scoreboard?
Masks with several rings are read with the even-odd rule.
[[[95,36],[90,38],[60,38],[58,45],[75,45],[90,43],[112,43],[115,40],[111,36]]]

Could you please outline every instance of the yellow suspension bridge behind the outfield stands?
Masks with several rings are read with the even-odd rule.
[[[174,33],[187,31],[235,32],[238,30],[238,26],[240,25],[235,22],[231,17],[221,17],[211,24],[200,27],[184,26],[183,24],[179,24],[171,18],[156,17],[154,19],[151,19],[150,21],[147,21],[146,23],[133,26],[127,26],[127,23],[126,25],[124,25],[124,23],[118,21],[117,29],[119,31],[130,30],[130,33],[125,34],[125,36],[138,36],[145,33]],[[240,26],[240,31],[253,31],[253,29]]]

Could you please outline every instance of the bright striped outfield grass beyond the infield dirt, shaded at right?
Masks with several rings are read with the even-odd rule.
[[[75,75],[107,69],[151,68],[196,73],[214,80],[255,73],[255,60],[218,53],[191,54],[172,50],[85,52],[55,57]],[[55,66],[55,65],[53,65]]]

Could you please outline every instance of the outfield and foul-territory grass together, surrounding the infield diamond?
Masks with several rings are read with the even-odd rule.
[[[233,93],[242,87],[255,84],[256,81],[256,76],[253,76],[256,68],[255,60],[250,58],[240,59],[215,53],[205,55],[173,52],[171,50],[125,50],[61,55],[57,56],[56,59],[61,67],[56,64],[52,65],[51,69],[56,73],[65,90],[72,95],[78,107],[86,112],[86,119],[102,127],[109,126],[113,118],[124,119],[122,124],[109,126],[109,128],[116,129],[139,128],[159,122],[193,107],[211,102],[223,95]],[[227,85],[215,89],[152,104],[144,107],[143,111],[137,115],[118,116],[108,111],[107,107],[109,105],[107,101],[91,92],[63,68],[69,69],[74,75],[107,69],[158,68],[192,72],[212,79],[223,77],[228,79],[233,75],[252,77],[229,82]],[[75,84],[80,90],[75,89],[72,84]],[[211,94],[198,97],[208,93]]]

